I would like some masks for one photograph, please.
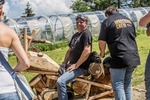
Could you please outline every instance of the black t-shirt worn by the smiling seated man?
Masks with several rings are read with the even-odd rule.
[[[75,33],[69,43],[70,51],[70,64],[74,64],[80,58],[84,47],[86,45],[92,45],[92,34],[88,29],[85,29],[81,33]],[[89,67],[90,61],[87,59],[80,68],[87,69]]]

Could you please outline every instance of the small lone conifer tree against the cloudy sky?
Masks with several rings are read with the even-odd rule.
[[[27,3],[27,8],[25,9],[25,13],[23,13],[24,15],[22,17],[32,17],[35,15],[35,13],[33,13],[32,8],[30,7],[30,3]]]

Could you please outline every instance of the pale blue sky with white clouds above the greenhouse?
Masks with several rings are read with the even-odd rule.
[[[4,13],[7,18],[19,18],[25,12],[27,2],[33,12],[38,15],[53,15],[71,13],[69,8],[74,0],[6,0]]]

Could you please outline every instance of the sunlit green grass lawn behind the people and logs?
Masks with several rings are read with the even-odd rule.
[[[145,62],[146,62],[147,54],[150,49],[150,39],[145,34],[138,35],[136,40],[137,40],[137,45],[139,49],[141,65],[139,65],[133,73],[133,86],[139,85],[140,83],[144,81]],[[46,53],[49,57],[51,57],[58,64],[61,64],[61,62],[64,59],[67,49],[68,47],[63,47],[63,48],[59,48],[59,49],[52,50],[52,51],[45,51],[43,53]],[[93,50],[99,52],[97,42],[93,43]],[[106,56],[109,56],[109,55],[106,55]],[[16,59],[14,56],[9,57],[9,63],[12,66],[16,64]],[[29,81],[37,73],[23,72],[23,74],[26,76],[27,80]]]

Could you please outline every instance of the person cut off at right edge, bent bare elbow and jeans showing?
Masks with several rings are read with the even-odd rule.
[[[140,26],[146,27],[147,36],[150,36],[150,11],[144,15],[140,21]],[[146,88],[146,100],[150,100],[150,53],[147,56],[145,65],[145,88]]]

